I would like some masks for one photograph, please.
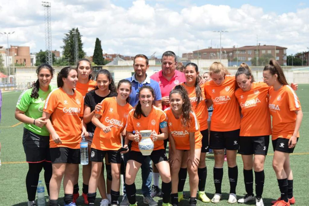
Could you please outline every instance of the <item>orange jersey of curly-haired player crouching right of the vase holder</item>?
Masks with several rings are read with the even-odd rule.
[[[189,150],[190,142],[189,142],[189,132],[194,132],[195,136],[195,149],[202,148],[202,134],[200,132],[200,125],[198,124],[197,117],[194,112],[190,114],[191,121],[190,126],[185,128],[181,124],[181,117],[177,120],[173,115],[171,107],[168,107],[164,110],[167,116],[167,126],[168,131],[171,133],[172,137],[175,141],[176,149],[181,150]]]

